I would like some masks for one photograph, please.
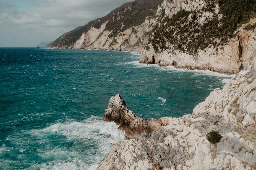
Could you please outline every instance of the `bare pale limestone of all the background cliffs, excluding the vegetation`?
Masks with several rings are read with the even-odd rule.
[[[135,1],[137,4],[140,2]],[[148,2],[148,3],[153,3]],[[68,45],[65,41],[69,42],[70,39],[74,38],[73,34],[65,38],[67,35],[64,34],[63,38],[53,43],[51,48],[81,48],[81,49],[101,49],[101,50],[124,50],[124,51],[139,51],[142,52],[140,63],[147,64],[158,64],[160,66],[173,65],[177,68],[186,69],[200,69],[210,70],[214,72],[221,72],[227,74],[238,73],[241,70],[249,70],[255,66],[256,63],[256,31],[255,29],[245,30],[245,26],[248,24],[256,23],[256,18],[252,18],[247,24],[243,24],[238,28],[227,43],[222,43],[221,38],[215,38],[214,42],[221,44],[217,47],[208,46],[205,49],[199,49],[196,54],[191,54],[186,51],[178,50],[174,48],[175,44],[166,43],[165,49],[160,52],[156,52],[150,44],[151,31],[156,25],[163,24],[158,19],[161,18],[162,14],[165,17],[171,18],[174,14],[181,10],[191,11],[198,15],[197,23],[204,24],[209,22],[214,15],[218,15],[222,18],[220,13],[220,6],[218,3],[214,4],[212,11],[204,11],[207,8],[207,1],[205,0],[163,0],[161,5],[158,6],[156,14],[145,18],[141,24],[136,26],[130,26],[126,29],[122,29],[125,24],[122,23],[121,19],[126,18],[129,11],[134,11],[140,7],[126,6],[122,9],[123,11],[113,12],[113,18],[108,20],[98,21],[101,25],[95,27],[93,24],[88,25],[88,29],[85,29],[79,38],[75,42],[71,41]],[[128,12],[127,12],[128,11]],[[192,21],[192,13],[189,15],[188,22]],[[106,26],[109,22],[119,22],[121,29],[108,29]],[[121,31],[122,30],[122,31]],[[118,33],[114,33],[117,31]],[[69,35],[69,34],[68,34]],[[179,35],[183,36],[183,35]],[[171,42],[171,40],[170,40]],[[145,46],[149,48],[145,48]]]

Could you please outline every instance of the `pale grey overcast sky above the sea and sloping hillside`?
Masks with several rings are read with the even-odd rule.
[[[34,47],[132,0],[0,0],[0,47]]]

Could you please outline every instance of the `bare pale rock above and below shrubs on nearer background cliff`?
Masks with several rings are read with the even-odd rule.
[[[205,1],[202,0],[164,0],[158,8],[157,16],[161,16],[163,11],[165,16],[169,18],[180,10],[199,11],[201,14],[198,23],[202,25],[210,21],[214,14],[219,13],[219,5],[217,3],[215,4],[214,12],[201,12],[200,10],[205,8],[206,5]],[[221,17],[222,14],[218,15]],[[191,20],[190,16],[189,21]],[[254,24],[255,22],[256,18],[253,18],[247,24]],[[160,25],[161,23],[158,24]],[[160,66],[172,65],[177,68],[210,70],[228,74],[238,73],[242,69],[253,69],[256,67],[256,31],[255,29],[244,30],[243,28],[247,24],[239,28],[236,37],[231,38],[227,44],[219,47],[207,47],[204,50],[197,51],[196,55],[177,50],[173,44],[168,43],[166,50],[155,53],[152,45],[148,45],[150,49],[145,49],[142,52],[140,63],[158,64]],[[221,40],[215,39],[215,41],[221,43]]]

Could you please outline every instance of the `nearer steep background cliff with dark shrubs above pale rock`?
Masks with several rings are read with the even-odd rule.
[[[165,0],[140,63],[223,73],[251,69],[255,13],[256,0]]]

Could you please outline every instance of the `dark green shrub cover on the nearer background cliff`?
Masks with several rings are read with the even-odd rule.
[[[217,3],[220,6],[219,13],[214,11]],[[204,12],[212,16],[209,15],[201,23]],[[150,43],[156,52],[169,48],[190,55],[197,54],[207,47],[225,45],[236,36],[237,28],[253,17],[256,17],[256,0],[209,0],[200,11],[181,10],[171,18],[165,16],[163,10],[158,17],[158,23],[161,24],[152,30]],[[246,27],[254,28],[254,25]]]

